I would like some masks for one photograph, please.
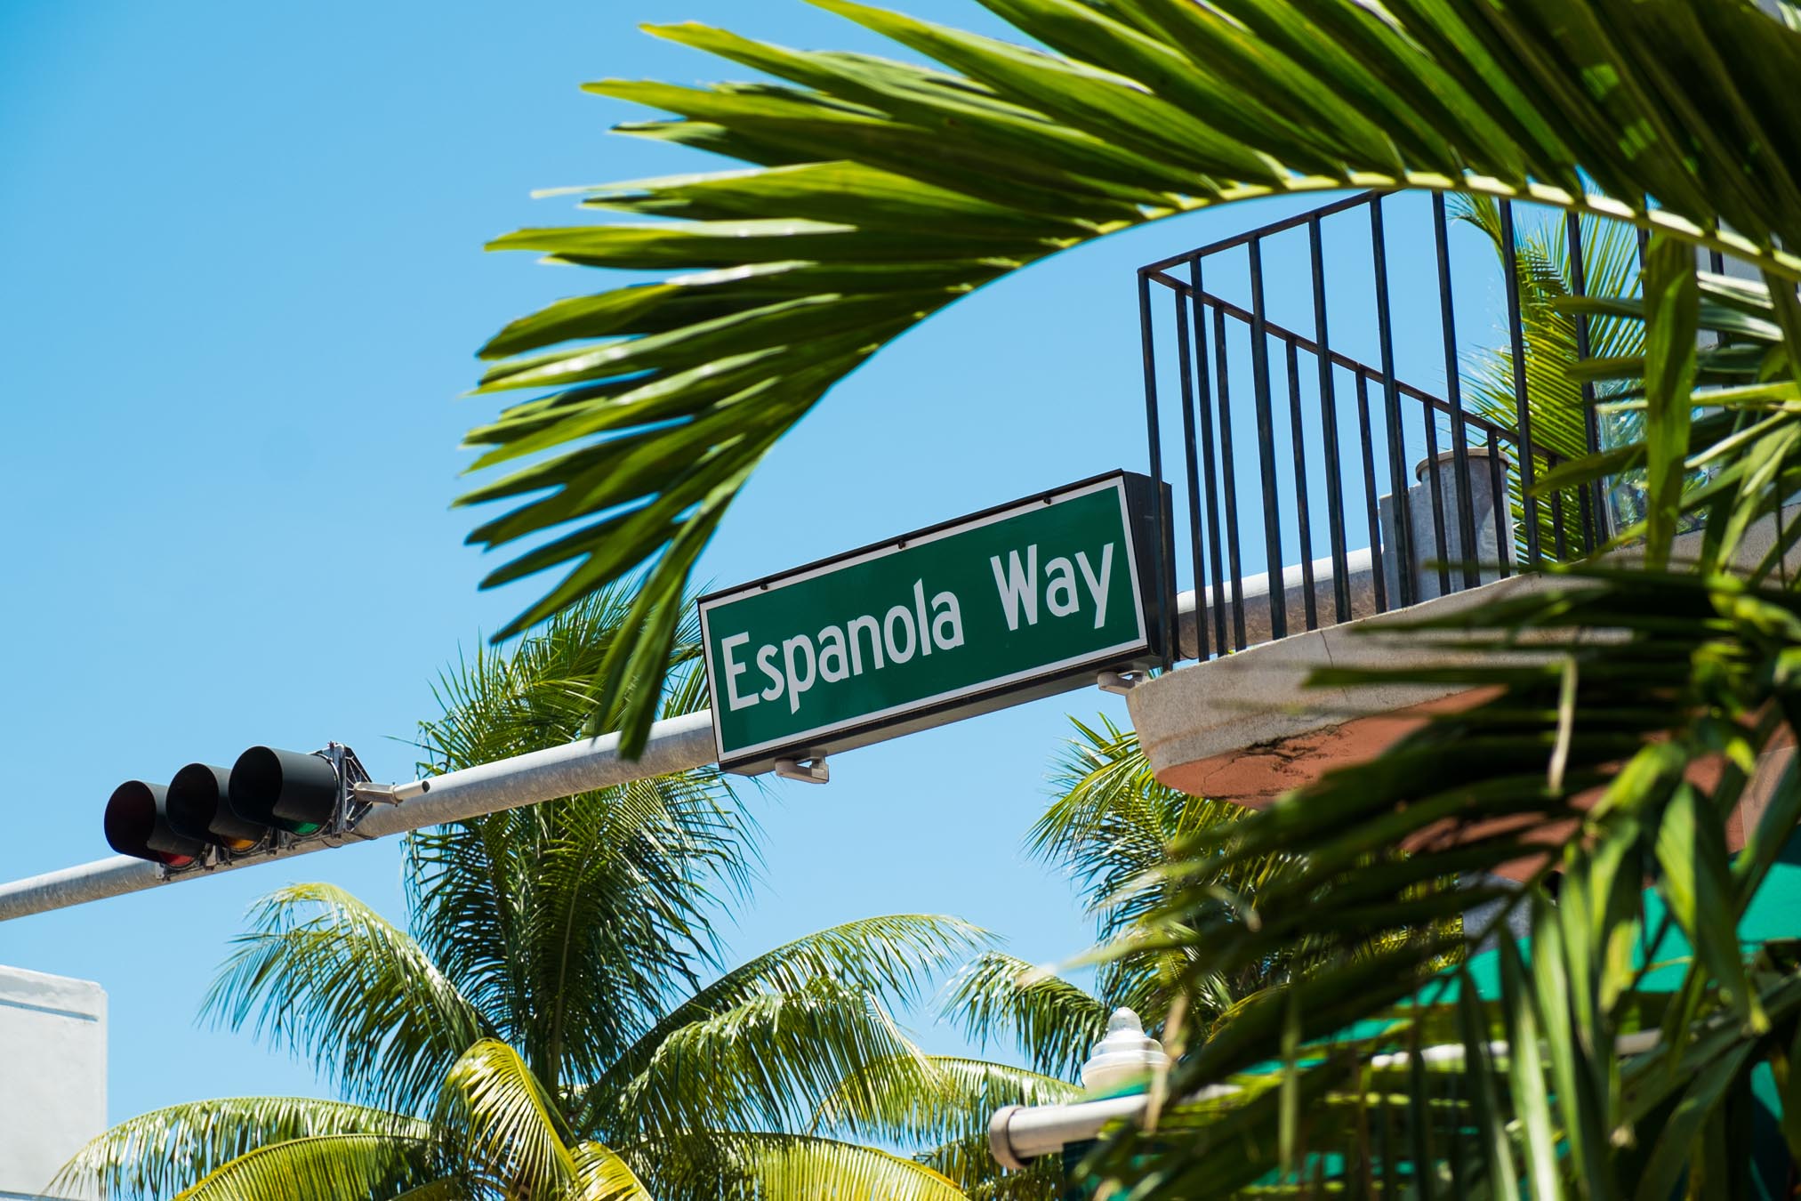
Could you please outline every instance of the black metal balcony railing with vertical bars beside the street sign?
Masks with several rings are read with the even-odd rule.
[[[1392,220],[1389,211],[1403,200],[1430,205],[1430,214],[1410,207],[1407,221]],[[1498,256],[1489,248],[1486,263],[1475,265],[1453,254],[1444,196],[1363,193],[1138,270],[1145,418],[1158,479],[1165,477],[1165,430],[1176,429],[1167,405],[1180,405],[1176,511],[1165,517],[1169,542],[1181,547],[1178,578],[1187,574],[1198,596],[1180,657],[1205,659],[1297,628],[1407,607],[1605,542],[1610,519],[1599,484],[1534,490],[1572,447],[1565,439],[1560,452],[1533,438],[1513,205],[1500,202],[1498,218]],[[1408,328],[1434,319],[1439,326],[1435,337],[1407,339],[1405,371],[1416,378],[1435,371],[1423,357],[1435,342],[1430,358],[1443,357],[1437,391],[1408,382],[1398,366],[1396,232],[1410,239],[1403,256]],[[1369,286],[1335,295],[1329,268],[1351,275],[1345,265],[1358,257],[1354,245],[1345,257],[1347,238],[1367,245]],[[1563,238],[1570,292],[1581,295],[1583,229],[1574,216]],[[1290,265],[1275,279],[1266,277],[1272,248]],[[1306,288],[1297,281],[1300,263]],[[1435,304],[1412,286],[1425,270],[1434,275]],[[1241,299],[1230,299],[1234,290]],[[1347,303],[1358,303],[1351,313],[1358,330],[1349,337],[1340,328]],[[1459,312],[1504,322],[1511,411],[1489,403],[1479,412],[1464,403],[1459,348],[1471,339],[1459,337]],[[1295,328],[1304,324],[1311,330]],[[1587,355],[1587,317],[1578,315],[1574,330],[1576,351]],[[1592,387],[1583,385],[1583,450],[1599,447],[1592,402]],[[1185,537],[1174,537],[1183,526]],[[1169,627],[1174,646],[1172,614]]]

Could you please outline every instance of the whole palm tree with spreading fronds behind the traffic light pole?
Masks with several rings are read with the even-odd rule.
[[[447,673],[443,715],[421,724],[423,767],[575,738],[629,610],[623,589],[603,589],[511,654]],[[675,711],[701,695],[692,659],[683,628]],[[411,835],[409,929],[340,888],[285,888],[252,911],[207,1012],[310,1059],[339,1100],[158,1109],[95,1138],[61,1187],[962,1197],[922,1163],[823,1136],[816,1113],[828,1098],[931,1095],[937,1073],[890,1010],[987,938],[953,918],[879,917],[720,971],[713,915],[755,857],[755,826],[701,771]]]

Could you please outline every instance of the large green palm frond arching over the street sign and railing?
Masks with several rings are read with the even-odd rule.
[[[490,243],[670,272],[508,326],[483,391],[553,391],[468,438],[481,465],[542,456],[465,495],[522,499],[472,542],[562,528],[484,582],[564,571],[502,637],[648,573],[593,699],[627,753],[693,564],[769,447],[881,346],[1061,248],[1234,200],[1425,187],[1625,218],[1801,279],[1770,248],[1801,245],[1801,50],[1740,0],[989,0],[1048,50],[819,2],[937,65],[656,29],[774,81],[589,90],[674,113],[625,133],[753,169],[594,189],[616,221]]]

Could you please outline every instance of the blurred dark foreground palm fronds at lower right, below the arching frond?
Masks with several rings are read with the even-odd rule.
[[[1644,470],[1648,513],[1626,531],[1643,560],[1414,621],[1410,639],[1446,652],[1430,672],[1320,673],[1432,679],[1473,704],[1185,843],[1192,866],[1158,877],[1144,936],[1192,956],[1185,987],[1302,951],[1324,971],[1244,1001],[1171,1077],[1178,1098],[1241,1091],[1172,1106],[1154,1138],[1117,1134],[1097,1178],[1135,1197],[1426,1179],[1459,1197],[1752,1196],[1752,1073],[1787,1080],[1801,1030],[1796,945],[1742,945],[1801,819],[1794,762],[1770,758],[1801,718],[1781,562],[1801,540],[1783,511],[1801,484],[1801,301],[1792,281],[1697,279],[1689,247],[1653,238],[1643,297],[1585,308],[1643,321],[1643,353],[1574,375],[1639,396],[1644,441],[1545,488]],[[1747,340],[1697,349],[1702,322]],[[1686,515],[1706,526],[1673,569]],[[1727,823],[1760,772],[1734,859]],[[1295,870],[1259,889],[1255,927],[1230,920],[1219,861],[1272,852]],[[1502,936],[1446,974],[1435,924],[1468,900],[1421,886],[1507,864],[1527,882],[1493,922],[1525,915],[1529,945]],[[1536,888],[1552,871],[1558,904]]]

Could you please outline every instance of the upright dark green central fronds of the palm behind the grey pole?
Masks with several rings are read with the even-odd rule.
[[[578,738],[629,607],[609,589],[506,654],[477,648],[439,682],[443,715],[421,724],[427,769]],[[692,636],[684,627],[679,646]],[[679,670],[675,711],[695,704],[699,682]],[[755,826],[719,772],[645,780],[411,835],[414,927],[555,1089],[598,1077],[672,992],[697,987],[715,965],[710,906],[747,884],[755,853]]]

